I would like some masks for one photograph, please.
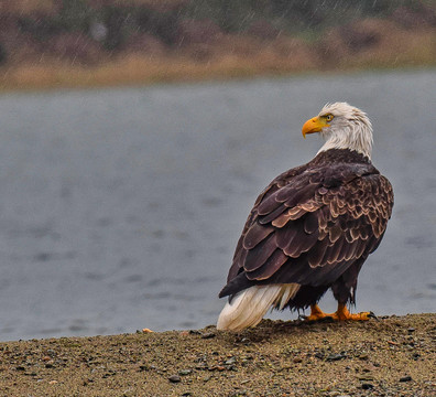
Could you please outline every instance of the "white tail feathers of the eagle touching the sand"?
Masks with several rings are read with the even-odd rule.
[[[297,283],[254,286],[227,302],[218,318],[218,330],[240,331],[257,325],[271,307],[283,309],[299,289]]]

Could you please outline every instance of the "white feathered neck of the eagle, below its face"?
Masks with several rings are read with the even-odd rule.
[[[326,143],[319,149],[320,152],[330,149],[348,149],[363,154],[371,160],[372,152],[372,127],[371,122],[367,119],[362,120],[349,120],[347,126],[340,128],[330,128],[327,133],[324,135]],[[321,132],[323,136],[323,132]]]

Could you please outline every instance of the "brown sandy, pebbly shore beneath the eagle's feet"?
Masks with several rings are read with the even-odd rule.
[[[434,396],[436,314],[0,343],[0,396]]]

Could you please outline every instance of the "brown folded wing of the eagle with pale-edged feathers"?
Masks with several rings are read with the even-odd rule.
[[[329,286],[381,242],[392,186],[369,163],[298,168],[259,196],[220,297],[253,285]]]

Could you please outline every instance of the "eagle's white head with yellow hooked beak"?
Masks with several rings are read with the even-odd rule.
[[[347,103],[326,104],[318,116],[303,126],[304,137],[313,132],[319,132],[326,140],[318,153],[329,149],[349,149],[371,159],[371,121],[366,112]]]

